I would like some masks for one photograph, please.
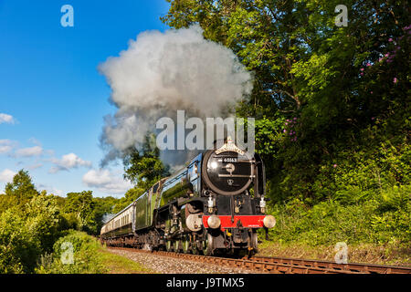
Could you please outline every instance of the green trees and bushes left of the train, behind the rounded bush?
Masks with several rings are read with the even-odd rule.
[[[53,245],[66,230],[74,227],[100,233],[103,216],[112,212],[117,201],[113,197],[93,198],[90,191],[68,193],[67,198],[38,193],[28,172],[18,172],[0,195],[0,273],[33,273],[38,261],[51,265]],[[79,263],[85,262],[91,256],[92,248],[87,251],[87,246],[92,246],[87,241],[91,237],[86,240],[83,234],[70,235],[79,238]],[[82,265],[73,271],[100,271],[99,266]]]

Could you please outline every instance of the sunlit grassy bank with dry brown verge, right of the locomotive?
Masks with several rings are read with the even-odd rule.
[[[364,193],[355,193],[361,200],[311,206],[294,198],[270,206],[277,224],[259,254],[334,261],[334,248],[342,242],[351,263],[411,266],[411,184]]]

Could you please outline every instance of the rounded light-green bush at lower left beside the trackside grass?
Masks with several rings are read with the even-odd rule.
[[[72,249],[71,249],[72,247]],[[107,272],[99,254],[100,243],[90,235],[69,231],[54,244],[53,254],[43,255],[36,269],[38,274],[100,274]],[[67,261],[72,251],[73,262]],[[66,263],[66,264],[64,264]]]

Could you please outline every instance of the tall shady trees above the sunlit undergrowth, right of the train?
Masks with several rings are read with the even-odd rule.
[[[205,38],[232,49],[254,72],[252,95],[237,105],[237,116],[256,118],[256,151],[266,162],[272,202],[333,196],[350,182],[338,180],[337,165],[353,172],[378,159],[386,145],[406,155],[406,1],[346,1],[348,26],[341,27],[335,25],[337,0],[169,2],[164,23],[199,24]],[[395,172],[383,173],[387,181],[396,177],[391,184],[407,181],[409,174]],[[360,177],[363,185],[373,179]]]

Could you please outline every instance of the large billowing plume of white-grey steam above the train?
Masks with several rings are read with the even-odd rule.
[[[118,108],[105,117],[100,142],[107,162],[132,146],[176,110],[200,118],[227,116],[228,106],[247,98],[251,74],[227,47],[205,40],[200,26],[143,32],[119,57],[109,57],[100,72]]]

